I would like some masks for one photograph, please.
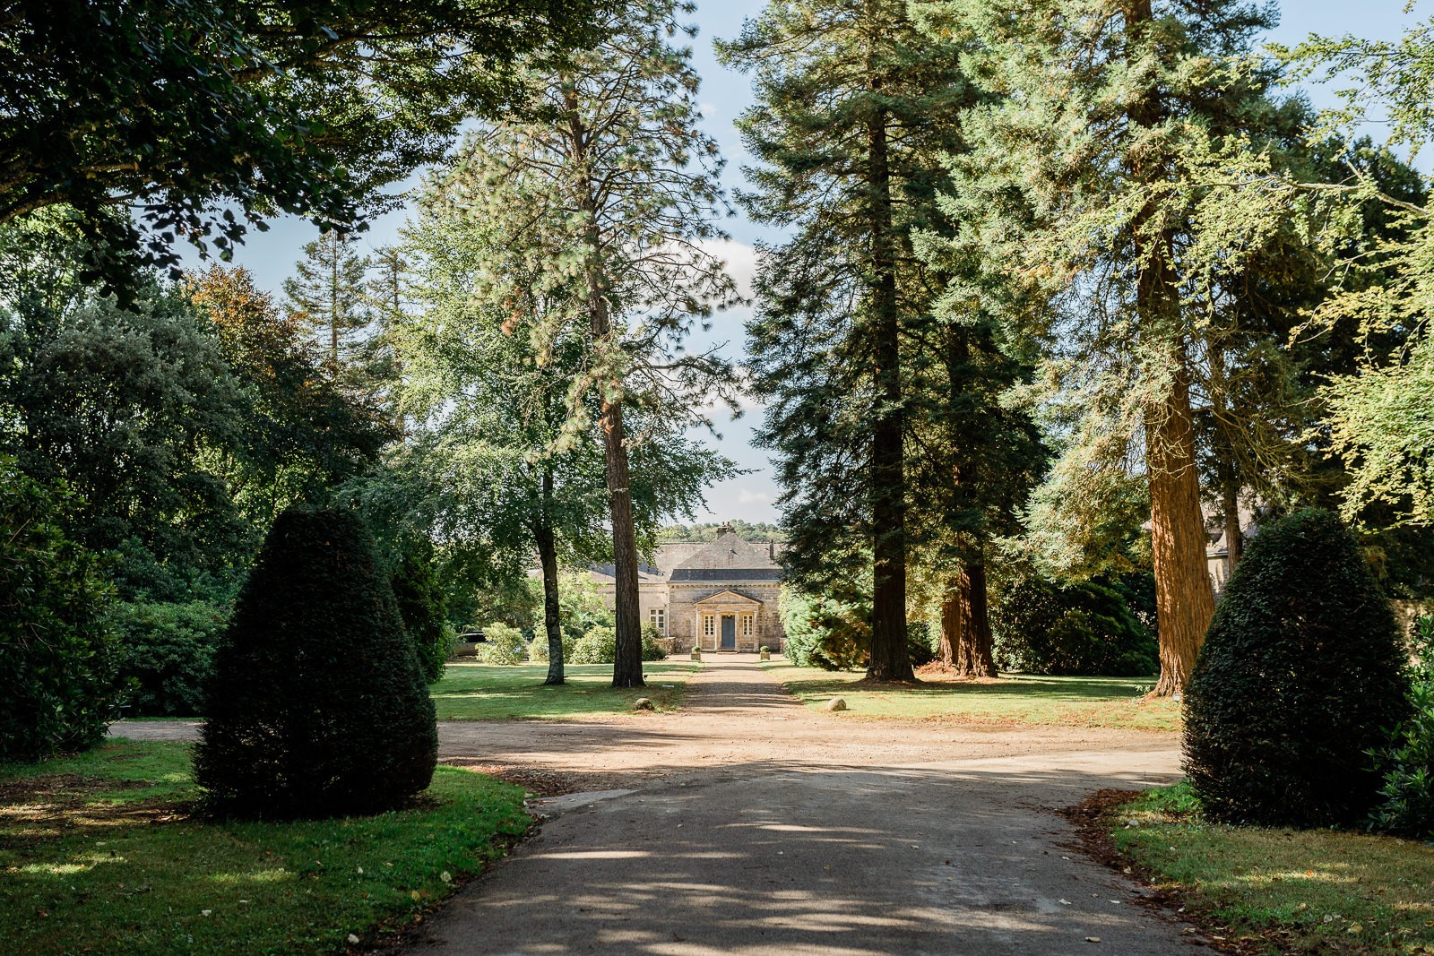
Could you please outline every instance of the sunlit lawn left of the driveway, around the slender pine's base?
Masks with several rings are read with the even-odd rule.
[[[647,687],[619,689],[611,687],[611,664],[569,664],[566,684],[546,687],[546,664],[450,662],[443,679],[433,685],[433,701],[440,721],[561,721],[619,714],[631,712],[640,697],[651,699],[658,711],[675,711],[683,704],[687,678],[700,668],[697,661],[648,662],[642,665]]]

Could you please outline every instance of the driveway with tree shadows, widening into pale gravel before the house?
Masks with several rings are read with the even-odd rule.
[[[1197,940],[1073,851],[1050,813],[1173,778],[1173,734],[863,721],[802,707],[753,656],[710,661],[678,714],[439,734],[446,763],[579,793],[535,801],[539,834],[439,912],[414,955],[1124,956]]]

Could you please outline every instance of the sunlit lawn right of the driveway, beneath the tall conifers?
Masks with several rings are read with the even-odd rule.
[[[931,681],[918,687],[869,688],[856,672],[832,672],[776,662],[764,665],[809,707],[846,701],[846,714],[896,720],[1054,724],[1173,731],[1174,701],[1144,701],[1154,678],[1011,675],[989,684]],[[845,718],[846,714],[842,717]]]

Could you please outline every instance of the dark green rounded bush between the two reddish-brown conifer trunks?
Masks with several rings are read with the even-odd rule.
[[[1119,580],[1061,583],[1030,566],[991,593],[997,668],[1051,677],[1146,677],[1160,669],[1156,636]]]

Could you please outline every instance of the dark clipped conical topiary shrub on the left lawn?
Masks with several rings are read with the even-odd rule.
[[[205,714],[195,774],[224,813],[377,813],[429,785],[433,702],[354,513],[274,522],[215,655]]]

